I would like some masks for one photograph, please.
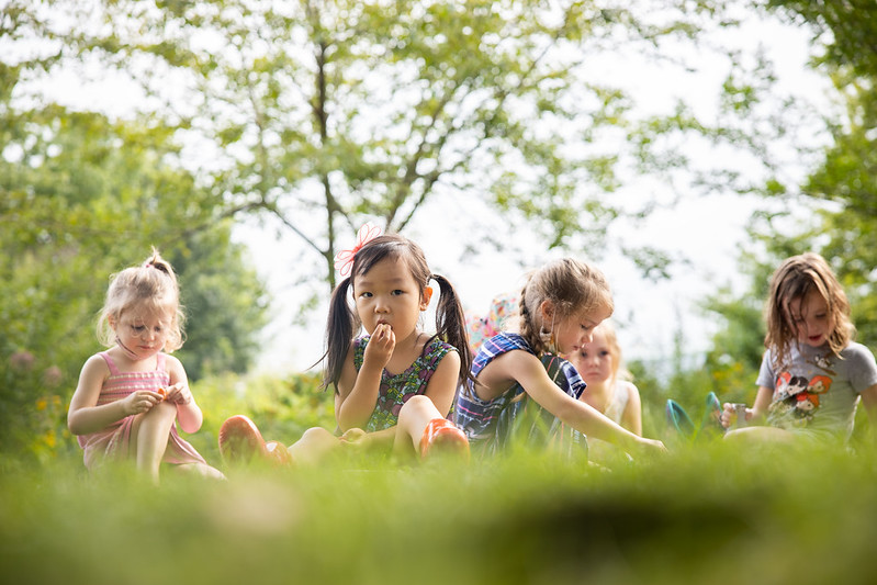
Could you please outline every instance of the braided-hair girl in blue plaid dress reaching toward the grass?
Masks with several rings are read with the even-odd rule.
[[[566,442],[567,430],[575,429],[638,455],[662,451],[661,441],[644,439],[580,401],[585,383],[559,357],[591,344],[594,328],[611,315],[603,274],[571,258],[553,261],[529,275],[519,299],[519,333],[482,342],[473,380],[464,381],[457,397],[454,420],[473,449],[499,452],[518,438],[549,447]]]

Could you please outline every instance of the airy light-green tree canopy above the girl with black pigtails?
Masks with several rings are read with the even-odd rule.
[[[143,85],[139,106],[193,145],[196,173],[225,213],[278,218],[313,251],[299,269],[329,286],[337,238],[366,217],[402,230],[427,202],[458,196],[549,247],[581,247],[601,241],[619,215],[649,213],[649,196],[621,200],[619,187],[641,173],[678,180],[686,135],[768,159],[762,131],[732,117],[754,117],[753,83],[769,75],[734,67],[728,115],[706,122],[682,101],[634,116],[630,95],[598,72],[618,56],[667,66],[684,61],[668,56],[681,45],[713,50],[696,43],[707,22],[734,24],[721,2],[656,12],[572,0],[89,5],[85,19],[64,13],[64,31],[75,31],[64,33],[67,54]],[[752,188],[739,172],[690,180]],[[646,268],[665,261],[628,251]]]

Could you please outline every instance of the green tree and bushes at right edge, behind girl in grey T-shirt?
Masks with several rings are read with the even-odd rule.
[[[877,346],[877,10],[867,1],[763,5],[810,27],[811,63],[833,81],[841,117],[828,121],[832,144],[801,184],[774,183],[763,191],[772,211],[756,215],[753,246],[742,260],[750,290],[706,303],[726,319],[708,369],[720,376],[742,372],[734,380],[750,382],[764,349],[761,312],[768,279],[783,259],[807,250],[829,259],[850,296],[858,340]]]

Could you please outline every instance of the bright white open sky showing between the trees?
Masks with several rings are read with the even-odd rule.
[[[816,114],[830,106],[831,85],[807,67],[810,55],[808,32],[783,24],[771,18],[752,18],[742,30],[734,33],[718,31],[713,41],[740,46],[755,53],[764,45],[775,64],[778,77],[777,100],[791,97],[798,106],[813,113],[810,135],[788,137],[813,147],[824,145],[828,136],[816,123]],[[723,36],[722,36],[723,35]],[[690,55],[688,56],[690,57]],[[643,113],[670,108],[676,98],[686,99],[698,114],[716,115],[720,85],[728,75],[728,64],[713,60],[705,54],[699,67],[690,71],[667,67],[662,70],[642,67],[636,55],[626,55],[618,64],[595,65],[598,75],[611,77],[611,82],[629,89]],[[695,59],[696,60],[696,59]],[[783,145],[777,146],[779,149]],[[695,156],[708,165],[717,157],[740,156],[720,150],[705,150]],[[789,148],[785,155],[785,177],[802,180],[812,160],[796,158]],[[741,172],[756,168],[745,158],[739,160]],[[795,181],[789,181],[796,184]],[[619,337],[628,358],[655,362],[668,360],[674,350],[674,336],[682,334],[683,351],[696,360],[706,349],[716,324],[704,316],[699,303],[705,295],[721,285],[742,286],[737,259],[747,244],[745,228],[756,205],[763,200],[745,198],[729,192],[709,195],[675,192],[670,185],[640,180],[625,188],[623,193],[637,200],[637,192],[660,195],[666,206],[651,213],[640,223],[616,221],[610,227],[615,245],[605,252],[582,250],[581,257],[600,266],[615,290],[616,322]],[[623,196],[619,193],[619,198]],[[678,201],[676,201],[678,199]],[[300,316],[300,304],[305,299],[296,291],[300,277],[286,267],[294,265],[296,255],[304,252],[296,239],[282,235],[280,226],[247,222],[237,229],[237,237],[254,249],[254,261],[266,275],[276,299],[277,317],[266,329],[266,353],[260,368],[269,371],[305,368],[319,357],[323,341],[325,302],[304,319],[291,326]],[[460,235],[466,232],[502,233],[508,227],[487,209],[466,200],[465,195],[438,200],[414,222],[406,235],[421,244],[432,269],[443,273],[458,288],[468,310],[487,311],[493,295],[514,291],[520,285],[526,267],[535,267],[548,258],[565,252],[549,252],[543,244],[515,232],[510,235],[509,250],[466,254]],[[652,245],[668,250],[677,261],[670,268],[668,280],[643,278],[620,247]],[[516,250],[516,251],[515,251]],[[280,260],[282,259],[282,261]],[[318,342],[319,344],[318,344]]]

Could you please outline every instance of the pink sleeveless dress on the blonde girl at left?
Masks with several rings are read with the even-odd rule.
[[[98,396],[98,406],[120,401],[137,390],[157,391],[170,385],[170,374],[165,367],[166,356],[164,353],[156,356],[156,369],[151,372],[127,373],[120,372],[115,362],[105,351],[100,352],[99,356],[110,368],[110,376],[103,382],[103,387]],[[86,451],[86,468],[92,470],[105,461],[122,461],[133,454],[130,453],[130,446],[131,428],[135,416],[126,416],[102,430],[78,437],[79,447]],[[176,423],[170,427],[168,448],[162,461],[172,464],[206,463],[194,447],[180,437]]]

